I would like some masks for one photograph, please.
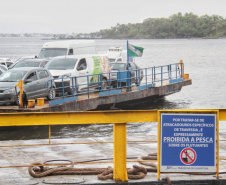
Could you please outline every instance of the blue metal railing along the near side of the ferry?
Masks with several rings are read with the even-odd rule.
[[[184,77],[184,63],[175,63],[164,66],[148,67],[135,70],[113,71],[92,75],[55,78],[49,80],[47,89],[53,88],[56,98],[90,95],[104,91],[113,91],[132,87],[162,86],[172,80]]]

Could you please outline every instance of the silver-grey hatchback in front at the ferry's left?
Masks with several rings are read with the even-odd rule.
[[[19,88],[15,88],[15,85],[21,79],[24,82],[23,93],[27,99],[55,98],[55,84],[51,84],[53,77],[47,69],[23,67],[5,71],[0,75],[0,104],[19,104]]]

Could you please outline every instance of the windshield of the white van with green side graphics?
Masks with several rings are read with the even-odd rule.
[[[75,64],[78,59],[74,58],[55,58],[52,59],[47,65],[46,68],[49,70],[68,70],[74,69]]]

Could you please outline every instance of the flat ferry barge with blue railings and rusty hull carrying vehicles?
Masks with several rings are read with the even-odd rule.
[[[140,71],[143,70],[143,76],[140,78]],[[93,89],[90,85],[90,78],[93,75],[61,78],[61,87],[50,86],[57,91],[62,91],[61,96],[56,97],[52,101],[43,98],[28,100],[28,107],[23,106],[0,106],[0,112],[56,112],[56,111],[88,111],[96,109],[114,109],[128,108],[130,105],[156,101],[164,96],[181,91],[182,87],[192,84],[188,74],[184,74],[184,63],[170,64],[165,66],[150,67],[134,70],[135,76],[131,76],[131,71],[115,72],[117,73],[116,87],[112,87],[111,81],[115,79],[109,78],[107,87],[103,85],[103,80],[96,82],[99,88]],[[112,72],[111,72],[112,73]],[[110,77],[112,74],[107,73]],[[130,76],[129,76],[130,75]],[[102,74],[96,74],[98,79],[102,79]],[[129,77],[128,77],[129,76]],[[79,78],[87,79],[87,89],[78,91],[76,81]],[[131,79],[135,79],[137,83],[131,83]],[[142,79],[142,80],[140,80]],[[54,80],[49,84],[54,84]],[[64,81],[75,81],[71,86],[64,86]],[[22,84],[22,83],[21,83]],[[84,85],[84,84],[82,84]],[[65,89],[71,88],[72,93],[67,94]],[[22,102],[22,101],[21,101]]]

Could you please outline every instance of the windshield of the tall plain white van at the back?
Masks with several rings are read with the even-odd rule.
[[[42,48],[38,58],[52,58],[67,55],[66,48]]]

